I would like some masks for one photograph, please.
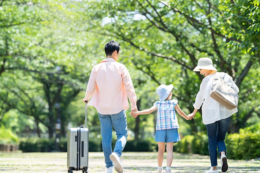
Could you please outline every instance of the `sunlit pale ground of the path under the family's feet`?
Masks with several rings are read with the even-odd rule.
[[[156,152],[123,152],[121,161],[124,173],[156,173]],[[218,162],[220,161],[218,160]],[[230,168],[227,173],[260,173],[260,160],[228,159],[228,163]],[[104,164],[103,153],[89,153],[89,173],[104,173]],[[203,173],[209,169],[209,165],[208,156],[174,153],[172,172]],[[166,159],[164,159],[163,166],[166,166]],[[67,153],[0,153],[0,172],[67,173]],[[81,173],[82,171],[73,172]]]

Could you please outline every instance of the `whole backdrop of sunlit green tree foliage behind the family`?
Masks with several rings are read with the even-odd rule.
[[[228,130],[238,133],[260,121],[259,16],[256,0],[1,1],[0,126],[19,136],[48,133],[52,138],[57,119],[63,137],[68,127],[84,124],[81,100],[89,74],[105,58],[104,45],[116,40],[119,62],[127,66],[140,99],[139,110],[158,100],[158,85],[172,83],[173,99],[184,112],[192,112],[203,78],[192,70],[200,57],[210,57],[239,86],[239,112]],[[154,137],[156,113],[139,116],[140,122],[129,109],[127,115],[129,141],[136,131],[139,139]],[[206,146],[201,112],[191,121],[178,120],[184,138],[177,146],[191,141]],[[100,141],[93,107],[88,127],[89,137]],[[194,134],[199,135],[188,136]],[[140,145],[154,150],[154,144]],[[51,148],[46,147],[40,150]],[[191,145],[178,150],[201,153]]]

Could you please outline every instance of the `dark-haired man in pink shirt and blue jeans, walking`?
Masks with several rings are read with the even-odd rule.
[[[113,40],[106,44],[106,58],[93,67],[83,99],[85,102],[92,97],[88,104],[98,111],[106,173],[113,173],[114,167],[118,173],[123,172],[120,157],[128,137],[125,111],[129,108],[128,99],[132,111],[137,110],[137,97],[130,74],[125,65],[117,62],[119,49],[119,43]],[[113,153],[112,126],[117,135]]]

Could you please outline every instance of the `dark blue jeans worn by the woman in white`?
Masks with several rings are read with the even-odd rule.
[[[217,166],[217,147],[219,151],[219,156],[222,151],[227,153],[226,144],[224,142],[227,128],[230,122],[230,118],[225,118],[219,121],[216,121],[212,124],[207,124],[207,132],[209,139],[209,153],[210,153],[210,162],[211,167]]]

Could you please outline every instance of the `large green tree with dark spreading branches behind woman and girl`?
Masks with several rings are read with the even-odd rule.
[[[86,3],[86,8],[90,9],[88,15],[83,12],[85,20],[90,21],[87,31],[122,40],[130,51],[142,52],[143,56],[135,58],[137,69],[158,84],[173,79],[175,97],[189,111],[193,109],[191,103],[202,79],[192,70],[200,57],[211,57],[219,71],[230,74],[240,88],[239,112],[233,116],[230,132],[237,132],[245,126],[244,122],[251,115],[245,114],[243,106],[249,98],[245,97],[248,91],[243,90],[248,88],[245,81],[250,80],[259,88],[258,80],[252,78],[259,69],[259,10],[256,1],[235,4],[233,1],[219,3],[213,0],[101,0]],[[236,8],[243,14],[234,15],[239,13]],[[232,20],[234,18],[236,20]],[[248,18],[250,23],[241,22]],[[241,31],[247,27],[251,29]],[[258,100],[258,96],[259,92],[254,90],[250,99]],[[251,103],[253,108],[255,102]],[[194,124],[190,125],[197,130]]]

